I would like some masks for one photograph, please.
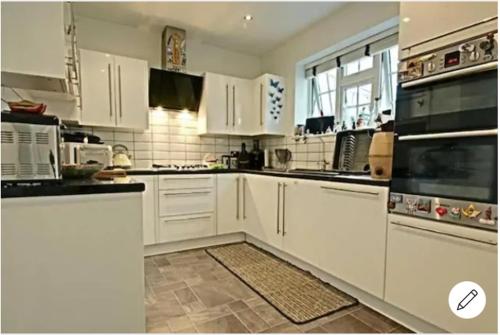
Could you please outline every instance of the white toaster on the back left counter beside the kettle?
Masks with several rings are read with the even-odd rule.
[[[63,164],[99,163],[104,168],[113,165],[111,146],[94,143],[64,142],[61,145]]]

